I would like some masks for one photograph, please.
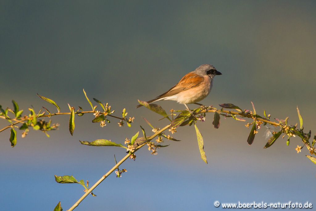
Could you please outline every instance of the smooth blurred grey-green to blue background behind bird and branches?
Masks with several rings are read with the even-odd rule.
[[[0,134],[0,202],[3,210],[64,210],[83,194],[77,184],[58,184],[54,175],[74,175],[94,184],[125,156],[124,149],[84,146],[79,140],[110,139],[124,143],[142,125],[163,127],[167,120],[142,107],[201,64],[212,64],[223,75],[215,78],[201,103],[218,107],[234,103],[258,113],[298,122],[316,131],[315,118],[315,1],[1,1],[0,104],[19,103],[55,112],[36,93],[49,97],[68,112],[71,106],[90,108],[84,88],[121,114],[135,116],[132,127],[117,121],[101,128],[93,115],[76,116],[71,136],[69,116],[52,117],[58,131],[18,131],[11,148],[9,130]],[[176,102],[159,102],[164,109],[184,109]],[[194,108],[194,105],[190,106]],[[150,155],[137,152],[123,177],[108,177],[76,210],[213,210],[219,202],[315,203],[316,166],[305,157],[299,138],[279,139],[267,149],[265,128],[252,146],[244,122],[213,114],[197,125],[204,137],[209,164],[201,158],[194,127],[178,128],[165,141],[170,146]],[[1,120],[0,126],[8,125]],[[217,208],[220,209],[220,208]]]

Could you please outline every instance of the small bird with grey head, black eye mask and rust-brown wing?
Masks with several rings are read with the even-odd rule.
[[[195,103],[201,105],[197,102],[209,95],[213,86],[213,79],[216,75],[222,75],[222,73],[217,71],[213,65],[201,65],[195,71],[186,74],[170,90],[147,102],[174,100],[180,104],[184,104],[186,109],[191,111],[186,104]],[[136,108],[141,106],[138,105]]]

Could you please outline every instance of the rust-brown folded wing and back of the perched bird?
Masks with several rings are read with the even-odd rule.
[[[163,93],[162,95],[159,95],[157,98],[167,97],[171,95],[178,94],[179,92],[197,87],[204,81],[204,77],[197,75],[194,72],[189,72],[186,74],[177,85],[172,87],[167,92]],[[157,99],[156,98],[156,99]]]

